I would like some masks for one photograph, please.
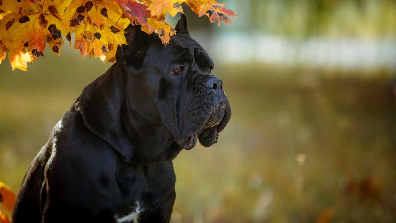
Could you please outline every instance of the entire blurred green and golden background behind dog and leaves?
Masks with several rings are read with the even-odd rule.
[[[185,8],[232,118],[218,144],[174,160],[171,221],[395,222],[396,2],[227,6],[238,18],[222,27]],[[55,123],[110,65],[67,44],[27,72],[1,63],[1,181],[18,190]]]

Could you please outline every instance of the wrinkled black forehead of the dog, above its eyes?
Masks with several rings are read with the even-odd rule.
[[[159,47],[161,50],[156,56],[164,62],[178,63],[182,58],[183,60],[194,60],[203,66],[213,67],[213,60],[206,50],[189,35],[173,35],[165,48],[162,44]]]

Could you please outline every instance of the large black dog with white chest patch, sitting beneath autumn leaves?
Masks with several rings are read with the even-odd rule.
[[[14,223],[169,222],[172,160],[217,142],[231,108],[183,15],[164,48],[139,25],[117,62],[57,123],[19,191]]]

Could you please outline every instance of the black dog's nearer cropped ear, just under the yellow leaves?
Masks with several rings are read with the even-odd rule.
[[[128,45],[118,46],[116,60],[126,69],[140,70],[147,51],[151,35],[141,30],[141,25],[129,25],[125,30]]]

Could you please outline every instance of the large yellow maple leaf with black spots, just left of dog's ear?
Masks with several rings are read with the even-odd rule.
[[[117,19],[114,21],[113,19]],[[110,0],[74,0],[63,16],[71,33],[75,33],[74,50],[80,50],[82,57],[95,56],[103,62],[115,61],[118,45],[126,44],[124,29],[129,19],[115,2]],[[108,59],[109,55],[111,58]]]

